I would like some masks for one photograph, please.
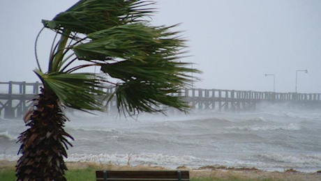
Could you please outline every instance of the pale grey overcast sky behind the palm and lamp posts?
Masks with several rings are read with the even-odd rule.
[[[38,81],[34,42],[43,27],[77,1],[14,0],[0,3],[0,81]],[[202,70],[197,88],[321,93],[320,0],[160,0],[156,25],[181,23],[189,55]],[[40,36],[38,54],[47,63],[54,33]]]

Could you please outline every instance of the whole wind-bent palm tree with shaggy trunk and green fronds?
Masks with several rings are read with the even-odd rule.
[[[17,180],[66,180],[64,157],[73,137],[64,131],[68,118],[63,107],[105,111],[103,102],[116,96],[119,112],[130,115],[161,112],[160,104],[188,109],[181,97],[169,94],[189,86],[188,73],[199,71],[178,61],[185,45],[180,32],[170,31],[174,26],[151,26],[154,8],[147,6],[153,3],[81,0],[54,19],[43,20],[43,29],[60,39],[52,42],[46,71],[36,56],[34,72],[43,87],[24,116],[29,129],[19,137]],[[93,66],[101,73],[80,71]],[[114,86],[114,92],[102,91],[107,85]]]

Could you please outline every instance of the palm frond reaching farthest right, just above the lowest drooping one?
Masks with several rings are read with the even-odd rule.
[[[188,63],[168,61],[166,58],[155,55],[147,57],[145,62],[120,61],[117,63],[100,64],[102,72],[123,81],[139,79],[156,84],[167,82],[174,86],[188,84],[191,78],[188,72],[200,72],[187,68],[186,65]]]

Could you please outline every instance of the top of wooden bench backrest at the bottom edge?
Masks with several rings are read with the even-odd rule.
[[[189,181],[188,171],[96,171],[96,181]]]

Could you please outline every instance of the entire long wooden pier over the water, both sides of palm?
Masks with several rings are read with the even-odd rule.
[[[40,86],[42,84],[39,82],[0,82],[0,116],[22,118],[32,104],[30,100],[39,93]],[[112,92],[113,90],[112,87],[106,87],[103,91]],[[264,102],[285,104],[288,108],[304,107],[321,111],[321,93],[274,93],[188,88],[173,96],[183,96],[192,109],[199,110],[251,111]],[[109,111],[117,109],[115,99],[108,104],[108,109]],[[173,109],[169,109],[169,111],[173,111]]]

